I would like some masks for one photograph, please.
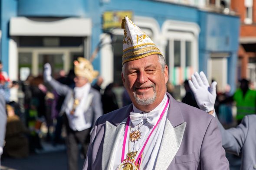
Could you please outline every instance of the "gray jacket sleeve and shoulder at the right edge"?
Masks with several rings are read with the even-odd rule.
[[[223,148],[242,156],[241,170],[256,169],[256,115],[247,115],[236,128],[225,130],[219,122]]]

